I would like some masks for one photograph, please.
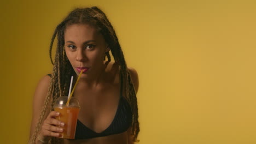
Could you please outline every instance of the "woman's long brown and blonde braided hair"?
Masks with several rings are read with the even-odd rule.
[[[46,109],[50,105],[50,109],[53,110],[53,105],[55,100],[61,95],[68,94],[68,88],[70,83],[70,77],[76,75],[75,71],[72,68],[71,63],[68,61],[65,50],[63,46],[65,45],[64,32],[67,26],[84,23],[96,27],[97,31],[100,32],[106,43],[108,44],[115,63],[120,67],[121,79],[123,79],[123,86],[125,89],[124,98],[129,102],[132,109],[132,137],[133,141],[137,141],[137,136],[139,133],[139,122],[138,122],[138,105],[136,98],[135,87],[133,86],[131,75],[127,69],[123,51],[119,44],[117,35],[115,34],[114,28],[109,22],[106,14],[103,13],[97,7],[91,8],[77,8],[71,11],[68,16],[56,27],[53,37],[51,38],[50,43],[50,59],[53,67],[53,75],[51,77],[50,86],[48,89],[48,94],[45,98],[43,109],[40,113],[39,121],[36,125],[36,129],[30,139],[30,143],[35,143],[38,136],[40,125],[42,125],[43,118],[46,114]],[[55,54],[55,61],[51,57],[51,52],[53,49],[54,40],[57,36],[57,49]],[[106,52],[107,61],[111,61],[109,51]],[[104,57],[104,60],[106,59]],[[48,143],[59,143],[60,140],[55,137],[51,137]]]

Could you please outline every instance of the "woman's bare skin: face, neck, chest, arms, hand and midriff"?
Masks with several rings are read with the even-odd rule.
[[[88,42],[89,41],[89,42]],[[89,67],[83,73],[73,94],[80,102],[78,119],[86,127],[101,133],[112,123],[120,98],[119,66],[113,62],[104,62],[103,57],[109,51],[102,35],[88,25],[71,25],[65,31],[65,50],[77,75],[76,67]],[[129,68],[136,91],[138,75],[135,69]],[[33,101],[33,119],[31,133],[34,131],[43,100],[46,97],[50,77],[44,76],[39,82]],[[125,94],[125,92],[123,92]],[[39,139],[50,136],[59,137],[61,122],[55,119],[56,111],[48,110],[44,118]],[[86,140],[63,140],[63,143],[133,143],[131,128],[121,134],[96,137]],[[37,139],[37,143],[42,143]]]

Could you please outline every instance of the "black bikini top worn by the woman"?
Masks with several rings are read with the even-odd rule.
[[[107,129],[101,133],[96,133],[95,131],[89,129],[82,122],[77,120],[77,127],[75,129],[75,140],[81,139],[91,139],[94,137],[108,136],[114,134],[120,134],[126,131],[132,124],[132,111],[130,104],[123,97],[123,80],[120,77],[121,87],[120,87],[120,99],[118,104],[117,112],[115,113],[112,123]]]

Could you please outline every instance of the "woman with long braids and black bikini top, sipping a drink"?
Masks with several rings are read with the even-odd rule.
[[[55,62],[51,50],[57,35]],[[110,52],[115,62],[110,62]],[[107,57],[107,61],[105,58]],[[133,143],[139,133],[138,75],[127,68],[117,35],[97,7],[73,10],[55,29],[50,45],[53,73],[40,80],[33,100],[30,143]],[[75,140],[57,139],[64,123],[54,101],[68,95],[71,76],[80,77],[73,97],[80,103]]]

